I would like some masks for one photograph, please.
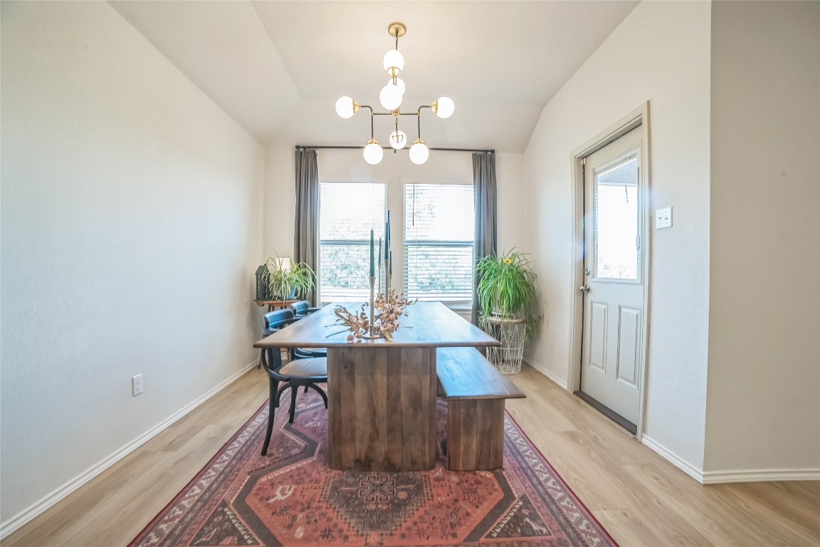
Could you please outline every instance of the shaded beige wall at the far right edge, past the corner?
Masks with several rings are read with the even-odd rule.
[[[712,24],[704,469],[817,476],[820,3],[713,2]]]

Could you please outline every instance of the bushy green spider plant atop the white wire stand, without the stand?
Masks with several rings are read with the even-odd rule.
[[[475,268],[478,278],[479,322],[486,326],[493,319],[524,319],[526,337],[538,320],[535,303],[535,272],[525,253],[513,248],[499,257],[480,258]]]

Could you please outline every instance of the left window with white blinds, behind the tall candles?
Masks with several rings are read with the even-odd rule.
[[[370,299],[370,230],[385,230],[385,185],[321,183],[319,298]],[[376,251],[378,252],[378,251]]]

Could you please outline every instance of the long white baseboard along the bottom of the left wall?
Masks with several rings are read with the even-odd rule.
[[[222,381],[212,390],[209,390],[202,396],[198,397],[198,399],[194,399],[192,403],[189,403],[184,408],[181,408],[177,413],[171,415],[171,417],[168,417],[166,420],[160,422],[156,426],[153,426],[153,428],[146,431],[143,435],[140,435],[137,439],[132,440],[129,444],[126,444],[124,447],[117,450],[107,458],[104,458],[101,462],[89,467],[84,472],[80,473],[80,475],[71,479],[71,481],[66,482],[66,484],[60,486],[57,490],[54,490],[51,494],[43,496],[43,498],[23,509],[20,513],[17,513],[6,522],[0,523],[0,540],[5,539],[6,536],[19,529],[21,526],[24,526],[34,517],[37,517],[40,513],[43,513],[43,511],[52,507],[52,505],[57,504],[58,501],[80,488],[80,486],[84,485],[95,476],[98,476],[108,467],[111,467],[122,458],[125,458],[125,456],[133,452],[135,449],[138,449],[139,446],[148,442],[148,440],[150,440],[153,436],[165,430],[166,427],[171,426],[171,424],[179,420],[181,417],[184,417],[186,414],[194,410],[194,408],[197,408],[200,404],[207,401],[207,399],[211,399],[215,394],[219,393],[221,390],[225,389],[225,387],[236,381],[239,376],[243,376],[245,372],[248,372],[251,368],[256,367],[257,362],[258,359],[254,359],[254,361],[249,365],[242,367],[239,372],[236,372],[233,376],[230,376],[225,381]]]

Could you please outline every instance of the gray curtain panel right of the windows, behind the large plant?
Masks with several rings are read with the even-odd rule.
[[[472,153],[472,185],[476,203],[476,261],[496,253],[498,244],[498,221],[496,207],[495,184],[495,153],[494,152],[474,152]],[[475,285],[478,287],[478,278]],[[479,309],[478,294],[476,288],[472,294],[472,322],[478,324]]]

